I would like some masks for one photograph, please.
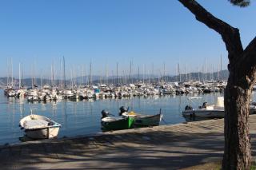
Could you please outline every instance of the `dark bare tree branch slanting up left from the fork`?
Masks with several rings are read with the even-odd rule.
[[[215,18],[204,9],[198,2],[194,0],[178,0],[185,6],[190,12],[195,15],[195,18],[204,23],[210,29],[215,30],[218,34],[221,34],[222,40],[226,44],[226,50],[229,52],[230,63],[234,57],[241,56],[243,49],[240,40],[239,30],[223,22],[222,20]]]

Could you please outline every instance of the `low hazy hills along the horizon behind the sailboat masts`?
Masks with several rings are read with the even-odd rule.
[[[138,81],[145,81],[145,82],[153,82],[153,81],[190,81],[190,80],[196,80],[196,81],[210,81],[210,80],[227,80],[229,76],[229,72],[228,70],[222,70],[222,72],[215,72],[215,73],[188,73],[188,74],[181,74],[180,76],[165,76],[165,77],[158,77],[156,75],[133,75],[130,78],[128,76],[120,76],[119,78],[117,76],[114,77],[108,77],[108,79],[106,79],[106,77],[100,77],[100,76],[93,76],[92,77],[92,81],[93,84],[97,84],[97,83],[102,83],[102,84],[106,84],[106,83],[114,83],[114,84],[124,84],[124,83],[131,83],[131,82],[138,82]],[[144,78],[143,78],[144,77]],[[88,81],[90,80],[89,77],[77,77],[73,79],[73,84],[75,85],[82,85],[88,83]],[[9,78],[9,81],[10,78]],[[35,82],[35,83],[34,83]],[[36,85],[52,85],[53,82],[49,79],[40,79],[40,78],[35,78],[35,80],[33,80],[33,83]],[[1,86],[5,86],[7,83],[7,77],[0,77],[0,85]],[[55,85],[59,85],[60,83],[64,84],[63,80],[55,80],[54,84]],[[71,80],[66,80],[66,85],[71,85],[72,81]],[[14,85],[18,86],[18,79],[14,78]],[[32,85],[32,79],[31,78],[25,78],[22,80],[22,85],[25,85],[27,87],[31,87]]]

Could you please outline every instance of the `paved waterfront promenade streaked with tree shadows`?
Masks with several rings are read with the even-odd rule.
[[[256,115],[250,116],[255,156]],[[222,160],[223,119],[0,148],[1,169],[180,169]]]

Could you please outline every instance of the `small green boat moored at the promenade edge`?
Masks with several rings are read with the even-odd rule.
[[[111,130],[122,130],[132,128],[134,125],[134,117],[104,117],[102,118],[102,131],[111,131]]]

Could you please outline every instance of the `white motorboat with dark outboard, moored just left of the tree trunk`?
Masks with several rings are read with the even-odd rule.
[[[206,105],[205,102],[198,109],[193,109],[190,105],[186,105],[182,115],[184,117],[224,117],[224,97],[218,97],[215,105]]]

